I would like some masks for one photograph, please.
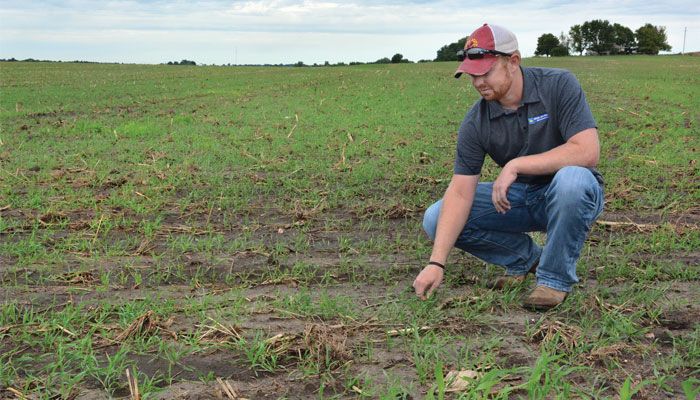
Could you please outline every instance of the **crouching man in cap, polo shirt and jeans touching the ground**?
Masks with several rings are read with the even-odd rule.
[[[537,286],[527,308],[545,310],[578,282],[576,261],[590,226],[603,209],[598,131],[576,78],[565,70],[520,66],[515,35],[484,24],[458,55],[455,77],[471,76],[481,95],[459,129],[454,175],[442,200],[425,212],[433,250],[413,287],[421,299],[440,286],[452,247],[506,275],[491,286]],[[488,154],[502,170],[479,183]],[[546,231],[544,247],[526,232]]]

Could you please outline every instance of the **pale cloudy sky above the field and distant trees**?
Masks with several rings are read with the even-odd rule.
[[[159,64],[371,62],[401,53],[434,59],[483,23],[537,38],[607,19],[633,31],[666,27],[672,52],[700,51],[700,2],[642,1],[5,1],[0,58]]]

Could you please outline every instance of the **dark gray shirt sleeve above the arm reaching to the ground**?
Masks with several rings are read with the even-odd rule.
[[[456,175],[479,175],[484,165],[486,151],[479,141],[478,105],[464,117],[457,136],[457,155],[454,173]]]

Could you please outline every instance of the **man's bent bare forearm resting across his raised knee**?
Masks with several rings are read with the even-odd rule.
[[[510,160],[493,183],[491,199],[500,213],[510,210],[506,197],[508,188],[518,174],[550,175],[567,166],[595,167],[600,157],[598,130],[585,129],[572,136],[566,143],[544,153]]]

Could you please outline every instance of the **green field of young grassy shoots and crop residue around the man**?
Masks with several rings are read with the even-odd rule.
[[[606,179],[547,313],[457,251],[412,293],[452,63],[0,63],[0,398],[694,399],[700,57],[524,64],[577,75]]]

